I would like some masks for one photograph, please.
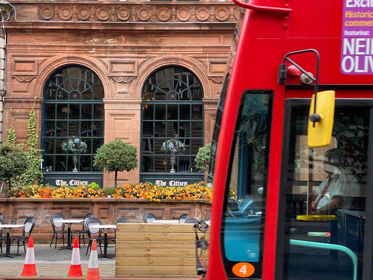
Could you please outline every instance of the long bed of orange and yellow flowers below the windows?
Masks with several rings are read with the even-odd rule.
[[[206,189],[207,187],[202,181],[186,187],[161,187],[150,183],[139,183],[104,189],[92,183],[88,186],[76,187],[52,187],[49,185],[14,187],[9,190],[9,195],[21,198],[140,198],[160,202],[161,199],[199,199],[206,193]]]

